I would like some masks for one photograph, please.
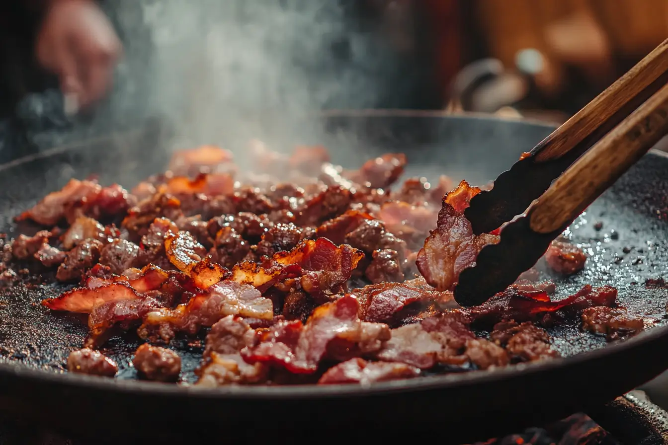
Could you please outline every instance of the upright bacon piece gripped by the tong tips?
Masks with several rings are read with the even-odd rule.
[[[438,213],[438,227],[418,252],[416,264],[427,282],[438,290],[452,290],[460,272],[476,262],[478,252],[487,244],[498,243],[498,236],[476,236],[464,209],[472,197],[480,193],[466,181],[448,193]]]

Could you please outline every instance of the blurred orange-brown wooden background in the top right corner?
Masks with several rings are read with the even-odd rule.
[[[518,50],[541,51],[559,65],[589,67],[595,77],[637,61],[668,37],[667,0],[477,0],[480,27],[493,57],[514,65]],[[621,73],[617,73],[618,75]]]

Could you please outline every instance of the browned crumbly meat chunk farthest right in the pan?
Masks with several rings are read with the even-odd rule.
[[[605,335],[610,342],[642,332],[645,329],[645,321],[641,317],[628,314],[623,308],[596,306],[582,311],[582,329],[593,334]]]

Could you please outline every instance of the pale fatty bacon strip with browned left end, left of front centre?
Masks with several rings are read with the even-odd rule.
[[[210,286],[206,294],[196,295],[174,309],[149,312],[138,329],[141,338],[170,342],[176,332],[196,334],[228,315],[272,320],[273,304],[253,286],[223,281]]]

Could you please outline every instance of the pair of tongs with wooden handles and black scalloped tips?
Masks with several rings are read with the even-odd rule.
[[[668,134],[667,83],[668,39],[471,199],[464,214],[474,234],[503,227],[460,274],[458,304],[482,304],[514,283]]]

